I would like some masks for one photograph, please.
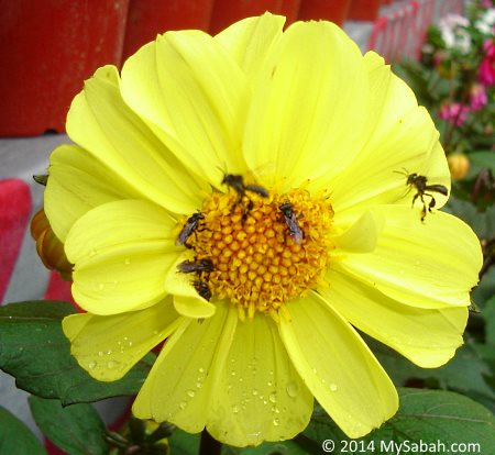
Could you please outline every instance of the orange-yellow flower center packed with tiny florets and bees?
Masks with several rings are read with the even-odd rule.
[[[328,198],[311,198],[304,189],[266,198],[230,189],[208,196],[201,215],[187,240],[189,264],[199,268],[195,286],[229,299],[242,320],[255,311],[277,319],[285,302],[321,281],[333,248]]]

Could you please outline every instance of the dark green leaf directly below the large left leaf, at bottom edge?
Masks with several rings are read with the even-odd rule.
[[[31,396],[31,412],[41,431],[70,455],[103,455],[108,445],[103,439],[105,423],[88,403],[64,408],[58,400]]]

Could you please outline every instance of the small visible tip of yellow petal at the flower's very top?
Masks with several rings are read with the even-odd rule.
[[[266,12],[235,22],[217,36],[252,84],[263,67],[271,48],[282,37],[285,18]]]

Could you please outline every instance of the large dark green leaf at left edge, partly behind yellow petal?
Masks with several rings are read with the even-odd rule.
[[[15,377],[20,389],[63,404],[135,395],[155,355],[150,353],[122,379],[100,382],[70,355],[62,319],[75,312],[66,302],[11,303],[0,308],[0,368]]]

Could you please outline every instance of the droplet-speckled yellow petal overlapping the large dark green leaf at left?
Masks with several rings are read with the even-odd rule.
[[[123,377],[180,322],[168,298],[141,311],[100,317],[73,314],[62,326],[70,340],[70,353],[95,379]]]

